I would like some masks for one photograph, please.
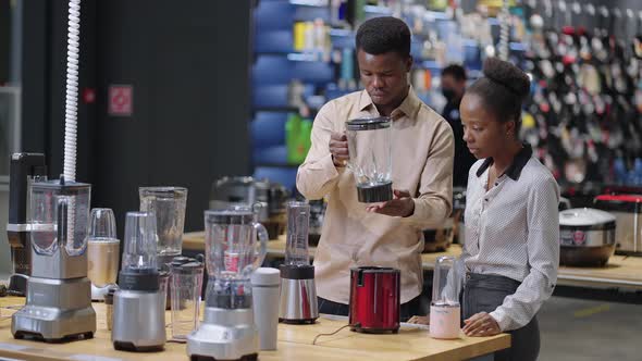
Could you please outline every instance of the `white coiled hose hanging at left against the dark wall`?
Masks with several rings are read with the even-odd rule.
[[[76,180],[76,138],[78,117],[78,59],[81,41],[81,0],[70,0],[66,47],[66,96],[64,102],[65,180]]]

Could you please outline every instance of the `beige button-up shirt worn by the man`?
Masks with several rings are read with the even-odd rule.
[[[391,115],[393,188],[410,191],[415,213],[369,213],[357,200],[353,172],[332,162],[330,135],[345,132],[348,120],[378,115],[366,90],[328,102],[314,119],[312,147],[297,173],[297,188],[307,199],[329,196],[314,266],[318,295],[335,302],[349,302],[355,266],[399,269],[402,302],[421,294],[421,231],[439,225],[452,211],[453,130],[412,88]]]

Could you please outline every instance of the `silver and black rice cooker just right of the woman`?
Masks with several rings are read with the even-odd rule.
[[[615,252],[615,216],[575,208],[559,212],[559,264],[603,266]]]

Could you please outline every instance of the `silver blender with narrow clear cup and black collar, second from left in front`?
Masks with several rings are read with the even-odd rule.
[[[165,291],[156,238],[153,213],[127,212],[123,266],[113,296],[111,340],[116,350],[161,350],[165,344]]]

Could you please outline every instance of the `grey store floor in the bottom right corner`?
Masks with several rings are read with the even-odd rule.
[[[539,318],[541,361],[642,360],[642,304],[553,297]]]

